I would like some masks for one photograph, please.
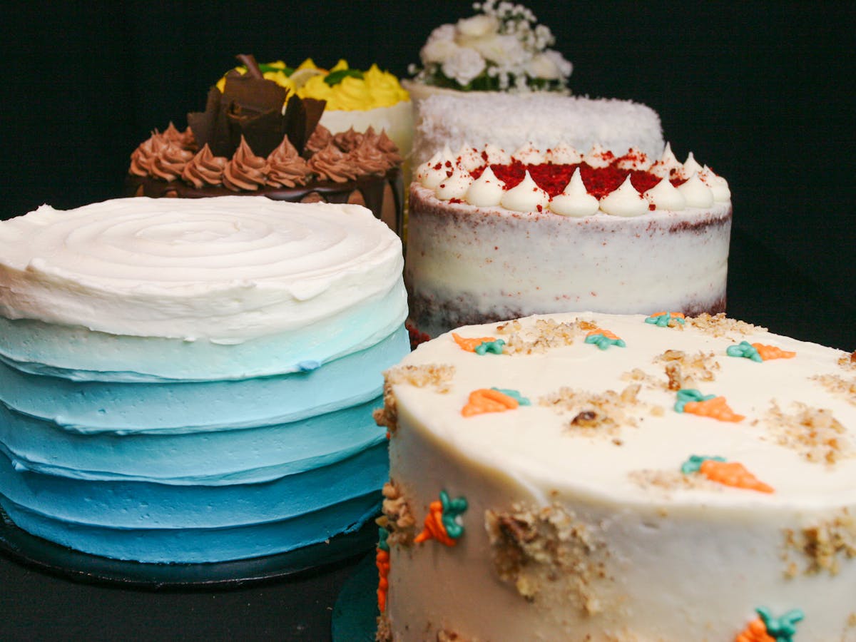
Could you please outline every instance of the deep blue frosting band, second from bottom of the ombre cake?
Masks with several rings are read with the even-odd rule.
[[[3,496],[53,520],[116,529],[224,528],[290,519],[375,494],[388,479],[386,440],[328,466],[257,483],[175,485],[68,479],[15,470],[0,456]],[[342,525],[345,526],[345,525]],[[77,548],[77,547],[75,547]]]

